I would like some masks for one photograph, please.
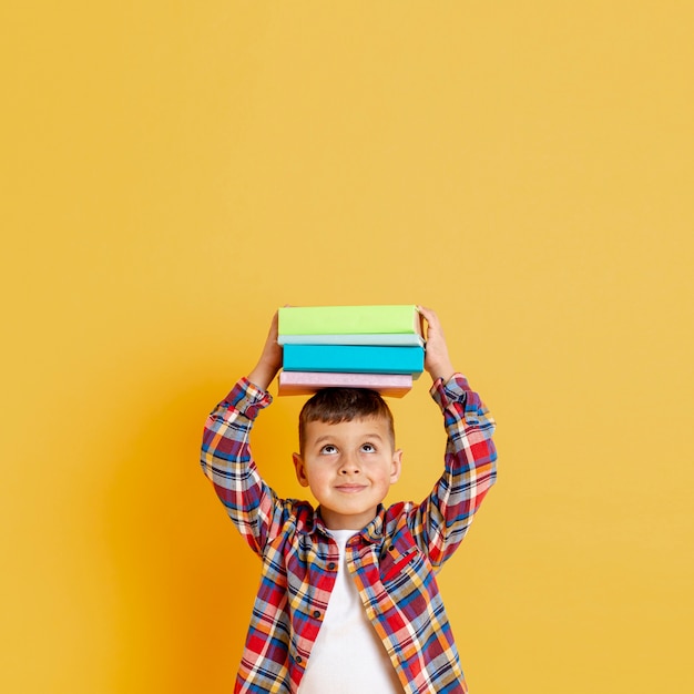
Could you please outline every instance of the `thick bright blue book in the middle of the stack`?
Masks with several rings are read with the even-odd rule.
[[[422,347],[285,345],[284,369],[344,374],[421,374]]]

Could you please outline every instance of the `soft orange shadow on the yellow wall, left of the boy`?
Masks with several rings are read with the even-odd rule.
[[[257,586],[255,557],[198,462],[228,384],[182,376],[143,386],[103,437],[116,443],[103,506],[113,692],[228,692]]]

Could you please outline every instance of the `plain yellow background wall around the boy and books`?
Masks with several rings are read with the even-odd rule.
[[[0,691],[232,691],[259,567],[198,442],[285,303],[433,307],[498,419],[441,574],[474,694],[693,691],[693,22],[3,3]],[[286,494],[302,400],[254,439]]]

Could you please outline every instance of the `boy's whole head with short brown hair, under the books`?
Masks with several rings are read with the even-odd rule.
[[[400,476],[392,414],[374,390],[325,388],[299,415],[300,484],[310,487],[328,528],[360,530]]]

